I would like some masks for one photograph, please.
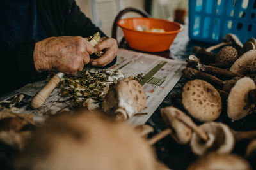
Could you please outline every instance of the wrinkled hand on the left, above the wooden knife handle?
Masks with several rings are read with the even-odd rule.
[[[57,69],[75,75],[90,62],[93,46],[81,36],[51,37],[38,41],[33,54],[35,69]]]

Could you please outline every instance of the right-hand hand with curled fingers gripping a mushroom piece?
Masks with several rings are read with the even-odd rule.
[[[117,42],[113,38],[101,38],[102,41],[95,45],[94,52],[100,52],[105,49],[105,53],[99,59],[90,59],[92,66],[104,67],[109,64],[117,54]]]

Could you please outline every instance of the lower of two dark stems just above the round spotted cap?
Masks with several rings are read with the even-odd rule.
[[[197,71],[196,69],[192,69],[187,67],[182,71],[182,74],[184,77],[189,79],[196,79],[200,78],[202,80],[205,80],[209,83],[214,83],[215,85],[218,85],[218,87],[223,87],[225,85],[225,81],[220,80],[219,78],[216,78],[215,76],[212,76],[211,74],[207,74],[201,71]]]

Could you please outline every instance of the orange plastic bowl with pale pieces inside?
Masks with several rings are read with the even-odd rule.
[[[156,18],[127,18],[118,20],[117,25],[122,28],[128,45],[143,52],[168,50],[178,32],[183,30],[183,26],[177,22]],[[146,26],[148,29],[164,29],[165,32],[137,31],[138,25]]]

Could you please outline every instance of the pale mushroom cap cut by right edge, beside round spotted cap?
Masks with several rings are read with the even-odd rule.
[[[255,83],[251,78],[239,79],[230,90],[227,100],[227,115],[232,120],[239,120],[248,115],[252,108],[248,106],[248,92],[255,89]]]

